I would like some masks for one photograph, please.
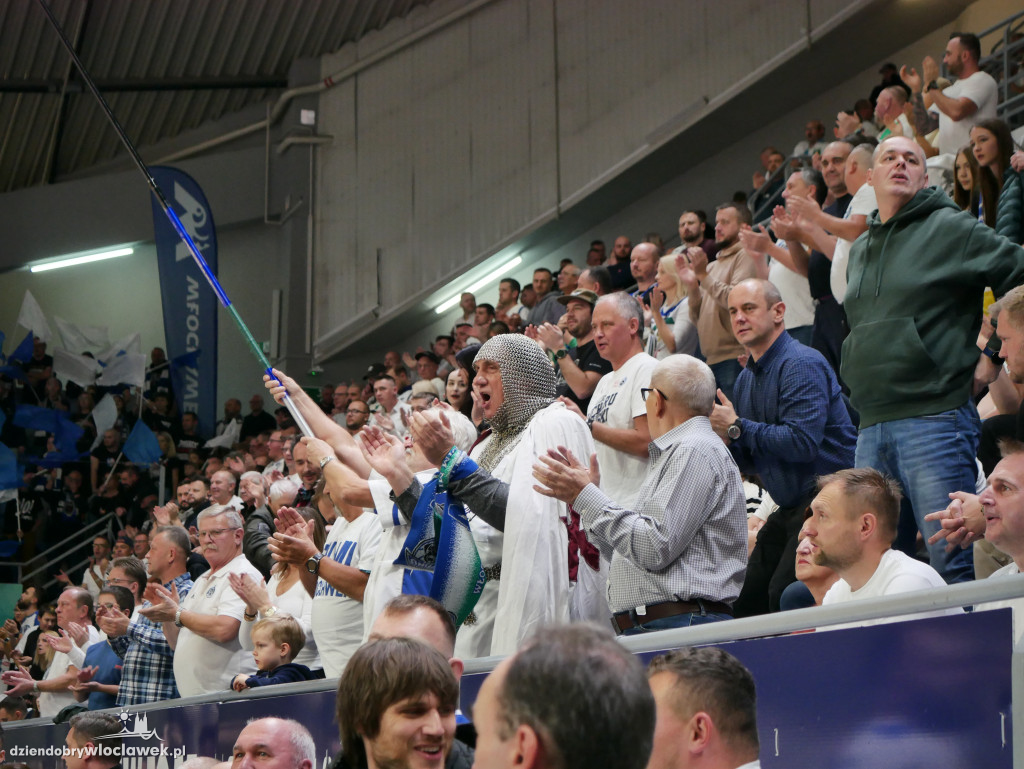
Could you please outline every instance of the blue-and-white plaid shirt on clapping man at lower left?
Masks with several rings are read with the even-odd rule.
[[[170,590],[171,585],[178,589],[178,597],[184,598],[191,590],[193,582],[186,571],[164,587]],[[142,607],[148,605],[148,601],[142,603]],[[174,684],[174,650],[164,638],[160,623],[137,614],[128,624],[125,635],[108,639],[108,642],[125,660],[121,669],[121,688],[118,690],[119,708],[178,696],[178,687]]]

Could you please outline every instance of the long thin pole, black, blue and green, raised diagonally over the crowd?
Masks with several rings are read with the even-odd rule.
[[[85,65],[82,63],[82,59],[78,57],[78,53],[75,51],[75,46],[72,45],[68,36],[65,35],[65,31],[60,27],[60,23],[57,22],[56,17],[53,15],[53,11],[50,10],[50,7],[46,4],[46,0],[37,0],[37,2],[39,3],[39,7],[41,7],[43,12],[46,14],[46,17],[49,19],[50,26],[53,27],[54,31],[57,33],[57,37],[60,38],[60,43],[68,51],[69,55],[71,55],[72,60],[75,62],[75,67],[78,68],[78,72],[82,76],[82,80],[85,81],[85,84],[89,87],[92,95],[95,96],[96,100],[99,102],[99,106],[106,116],[106,120],[112,126],[114,126],[114,130],[121,139],[121,143],[125,145],[125,148],[134,161],[135,166],[145,177],[145,181],[150,185],[150,191],[152,191],[153,196],[157,199],[157,203],[160,204],[160,208],[170,220],[171,225],[174,227],[175,231],[177,231],[182,243],[188,247],[188,250],[191,252],[193,259],[195,259],[196,264],[206,276],[206,281],[210,284],[210,288],[213,289],[213,293],[217,295],[217,299],[220,300],[221,305],[223,305],[224,309],[227,310],[231,319],[234,321],[234,325],[238,327],[243,338],[245,338],[246,342],[249,343],[249,349],[252,350],[256,359],[260,361],[260,365],[263,367],[267,376],[274,382],[278,382],[278,378],[273,376],[273,369],[270,366],[270,361],[267,359],[266,355],[263,354],[263,348],[260,346],[259,342],[256,341],[252,332],[249,331],[249,327],[246,326],[245,322],[242,319],[242,315],[240,315],[239,311],[234,309],[234,305],[231,303],[231,300],[227,298],[227,294],[217,281],[216,275],[213,274],[213,271],[210,269],[210,265],[206,263],[206,259],[203,258],[203,254],[200,253],[199,248],[185,230],[185,226],[181,223],[181,219],[178,218],[178,215],[174,213],[174,209],[171,208],[170,204],[167,202],[167,198],[164,197],[163,191],[160,189],[160,185],[157,184],[157,180],[154,179],[153,174],[150,173],[150,168],[145,165],[145,162],[138,154],[138,151],[135,149],[135,145],[132,143],[131,139],[128,138],[128,134],[125,133],[124,128],[121,127],[121,123],[118,122],[117,116],[114,115],[114,111],[111,110],[111,105],[106,103],[106,99],[103,98],[103,94],[99,92],[99,88],[96,87],[92,77],[86,71]],[[305,418],[299,414],[298,408],[295,405],[291,396],[287,392],[285,393],[285,407],[288,409],[288,413],[292,415],[292,419],[295,420],[295,424],[302,431],[302,434],[308,437],[313,437],[312,429],[310,429]]]

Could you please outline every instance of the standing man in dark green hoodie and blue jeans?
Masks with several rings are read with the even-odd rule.
[[[856,466],[899,480],[926,540],[939,523],[925,515],[945,508],[950,492],[974,492],[978,476],[971,396],[982,294],[1024,284],[1020,247],[926,189],[927,179],[911,139],[879,145],[879,210],[850,251],[843,345],[843,379],[860,412]],[[973,578],[970,551],[947,554],[938,542],[929,557],[946,582]]]

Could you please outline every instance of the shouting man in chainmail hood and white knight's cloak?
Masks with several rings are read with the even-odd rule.
[[[469,512],[487,580],[459,630],[461,657],[512,653],[537,628],[568,621],[568,511],[534,489],[531,472],[537,458],[557,446],[578,457],[594,452],[586,423],[554,400],[554,371],[536,342],[499,335],[480,347],[474,367],[474,397],[490,430],[468,458],[455,448],[443,412],[418,413],[411,422],[414,440],[437,466],[478,466],[451,484]],[[413,481],[397,496],[407,514],[420,489]]]

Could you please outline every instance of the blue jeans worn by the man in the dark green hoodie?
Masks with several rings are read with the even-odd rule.
[[[944,510],[950,492],[974,494],[978,477],[975,457],[981,422],[974,403],[928,417],[880,422],[857,435],[857,467],[873,467],[899,481],[903,508],[912,511],[925,541],[939,530],[925,516]],[[911,553],[912,554],[912,553]],[[928,546],[932,564],[947,583],[974,579],[971,550],[946,553],[945,542]]]

